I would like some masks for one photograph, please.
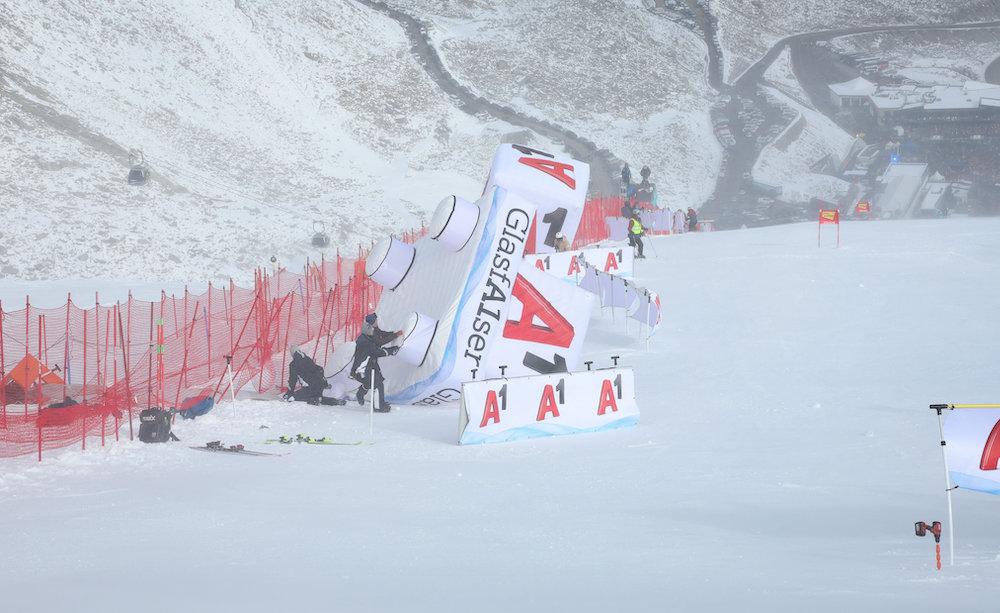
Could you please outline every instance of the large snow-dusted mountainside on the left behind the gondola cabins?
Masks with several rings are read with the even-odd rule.
[[[515,129],[458,110],[347,0],[5,3],[0,37],[8,280],[245,279],[317,257],[314,219],[352,249],[477,195]]]

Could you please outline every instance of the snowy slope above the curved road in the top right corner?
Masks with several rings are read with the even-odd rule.
[[[983,0],[707,0],[719,21],[727,82],[791,34],[867,25],[1000,19]]]

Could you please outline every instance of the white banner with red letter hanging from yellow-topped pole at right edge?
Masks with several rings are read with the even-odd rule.
[[[1000,409],[955,409],[944,440],[953,485],[1000,494]]]

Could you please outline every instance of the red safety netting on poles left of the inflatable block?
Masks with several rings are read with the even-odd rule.
[[[426,230],[407,232],[412,242]],[[300,273],[258,270],[251,288],[230,282],[148,302],[133,299],[80,308],[30,300],[0,305],[0,457],[37,453],[88,439],[118,439],[147,407],[229,393],[248,384],[281,388],[290,344],[325,365],[338,343],[353,340],[381,287],[356,259],[307,264]],[[70,406],[60,406],[67,403]],[[54,406],[53,406],[54,405]]]

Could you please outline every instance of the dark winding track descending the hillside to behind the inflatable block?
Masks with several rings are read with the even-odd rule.
[[[460,109],[470,115],[489,114],[496,119],[561,143],[574,158],[590,164],[591,193],[600,195],[619,193],[621,185],[619,173],[623,162],[610,151],[598,147],[572,130],[544,119],[525,115],[475,94],[448,72],[437,49],[431,44],[427,26],[417,18],[376,0],[356,0],[356,2],[386,15],[403,27],[410,41],[410,50],[423,66],[427,76],[441,88],[441,91],[451,96]]]

